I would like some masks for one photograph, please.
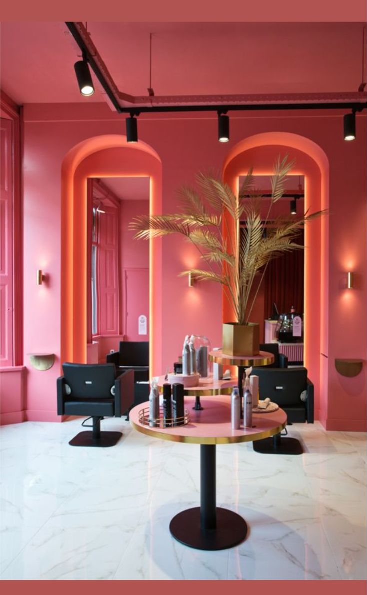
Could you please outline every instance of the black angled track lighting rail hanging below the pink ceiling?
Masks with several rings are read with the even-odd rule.
[[[90,53],[83,37],[80,35],[75,23],[66,22],[66,26],[76,40],[83,57],[89,62],[95,76],[102,85],[103,90],[114,106],[118,114],[129,114],[139,116],[140,114],[159,114],[172,112],[217,112],[218,115],[226,114],[228,111],[294,111],[299,109],[352,109],[353,112],[360,112],[366,109],[367,102],[344,101],[328,103],[293,103],[293,104],[234,104],[234,105],[147,105],[136,107],[121,107],[115,93],[106,80],[101,68]]]

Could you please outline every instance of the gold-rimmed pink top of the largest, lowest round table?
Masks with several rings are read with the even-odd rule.
[[[269,414],[253,414],[252,428],[241,427],[239,430],[232,430],[230,396],[206,397],[202,411],[193,410],[194,404],[195,397],[185,398],[185,409],[190,412],[190,421],[186,425],[174,428],[150,428],[143,425],[139,421],[139,411],[149,408],[148,401],[131,409],[130,422],[133,428],[143,434],[162,440],[196,444],[228,444],[261,440],[283,430],[287,422],[286,413],[283,409],[278,409]]]

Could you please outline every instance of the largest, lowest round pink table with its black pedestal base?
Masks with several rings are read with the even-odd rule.
[[[186,397],[185,407],[190,409],[194,397]],[[200,414],[190,413],[186,425],[174,428],[150,428],[139,421],[139,411],[149,402],[137,405],[130,411],[133,428],[160,438],[177,442],[200,444],[200,507],[179,512],[170,522],[170,531],[181,543],[202,550],[221,550],[233,547],[246,538],[247,524],[236,512],[216,506],[215,497],[215,446],[262,440],[280,433],[286,425],[283,409],[272,413],[253,414],[253,427],[231,428],[230,397],[208,397]]]

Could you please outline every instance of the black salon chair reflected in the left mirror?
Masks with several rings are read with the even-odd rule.
[[[135,382],[149,380],[149,341],[120,341],[118,351],[108,353],[106,362],[115,364],[118,372],[133,369]]]

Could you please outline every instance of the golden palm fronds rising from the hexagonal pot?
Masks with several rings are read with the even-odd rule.
[[[271,176],[271,208],[284,193],[286,176],[294,162],[287,156],[277,158]],[[321,211],[301,217],[277,217],[264,236],[261,216],[261,195],[254,187],[252,168],[244,179],[239,196],[218,177],[199,173],[196,188],[183,186],[178,191],[181,212],[171,215],[139,215],[130,223],[137,239],[180,234],[199,250],[208,268],[193,268],[180,275],[193,275],[197,280],[220,283],[239,324],[248,324],[256,295],[268,262],[289,250],[302,249],[293,240],[301,228]],[[232,224],[230,224],[230,220]],[[240,233],[240,220],[244,227]],[[256,273],[262,271],[252,304],[247,308]]]

